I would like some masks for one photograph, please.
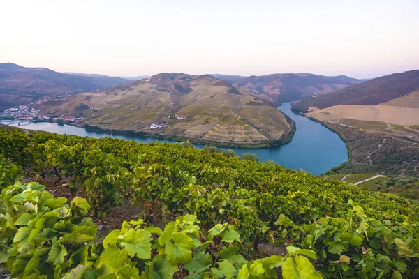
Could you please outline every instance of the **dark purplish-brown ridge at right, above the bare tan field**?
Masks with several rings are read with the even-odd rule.
[[[310,107],[324,109],[335,105],[378,105],[418,89],[419,70],[411,70],[378,77],[327,95],[301,100],[293,107],[300,112],[308,112]]]

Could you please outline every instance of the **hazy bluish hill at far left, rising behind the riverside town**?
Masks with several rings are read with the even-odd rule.
[[[0,63],[0,110],[28,104],[45,96],[75,95],[126,82],[129,80],[119,77],[71,75],[47,68]]]

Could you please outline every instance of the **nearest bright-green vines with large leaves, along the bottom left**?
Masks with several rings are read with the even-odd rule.
[[[91,206],[75,197],[66,204],[38,183],[4,188],[0,207],[0,263],[11,278],[321,278],[307,257],[316,253],[288,246],[285,257],[250,262],[240,254],[235,226],[217,224],[203,232],[196,216],[179,216],[159,227],[143,220],[97,241],[98,227],[85,217]],[[307,256],[307,257],[306,257]],[[307,277],[308,278],[308,277]]]

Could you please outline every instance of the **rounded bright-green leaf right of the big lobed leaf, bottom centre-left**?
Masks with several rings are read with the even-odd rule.
[[[166,243],[164,250],[170,263],[186,264],[186,262],[189,262],[192,259],[191,249],[195,247],[195,243],[193,243],[191,237],[187,236],[184,232],[176,232],[172,236],[172,241]]]

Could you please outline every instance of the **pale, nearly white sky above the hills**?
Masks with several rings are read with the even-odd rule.
[[[418,0],[0,0],[0,63],[115,76],[419,68]]]

